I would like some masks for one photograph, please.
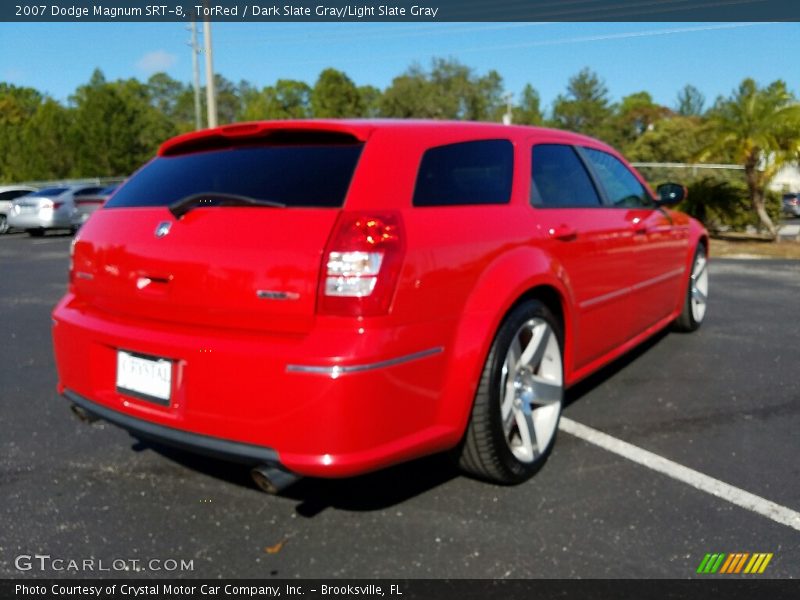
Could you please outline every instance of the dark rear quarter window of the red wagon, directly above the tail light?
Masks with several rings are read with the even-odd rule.
[[[427,150],[417,174],[414,206],[506,204],[511,199],[514,147],[480,140]]]

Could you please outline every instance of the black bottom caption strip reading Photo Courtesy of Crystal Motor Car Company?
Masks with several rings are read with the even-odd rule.
[[[694,580],[0,580],[3,600],[789,600],[798,591],[800,584],[793,580],[714,575]]]

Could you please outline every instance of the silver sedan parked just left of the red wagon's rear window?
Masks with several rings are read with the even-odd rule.
[[[11,203],[8,224],[26,230],[32,236],[44,235],[48,229],[75,231],[80,225],[75,197],[94,194],[102,186],[64,185],[48,187],[22,196]]]

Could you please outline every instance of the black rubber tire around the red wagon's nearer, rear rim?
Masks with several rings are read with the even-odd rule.
[[[503,417],[501,416],[503,396],[508,394],[508,384],[504,385],[504,364],[510,356],[510,350],[514,340],[519,340],[519,335],[524,333],[524,328],[531,323],[536,323],[537,327],[544,322],[549,326],[549,333],[547,341],[548,344],[544,357],[540,357],[539,363],[530,363],[531,373],[537,377],[541,376],[541,369],[544,369],[544,363],[549,360],[548,368],[558,371],[557,387],[553,386],[551,390],[553,398],[557,395],[556,400],[549,400],[548,404],[540,405],[538,402],[530,401],[528,410],[533,414],[540,408],[548,408],[550,412],[547,413],[546,422],[549,424],[553,422],[554,410],[555,420],[552,425],[552,433],[549,441],[547,441],[544,448],[538,448],[533,451],[531,460],[520,460],[515,451],[512,450],[513,442],[509,441],[509,435],[513,436],[514,427],[517,425],[512,424],[512,432],[506,432],[503,425]],[[532,330],[531,330],[532,331]],[[550,337],[555,338],[557,346],[555,350],[550,344]],[[533,334],[531,333],[531,338]],[[518,346],[521,348],[521,346]],[[558,429],[558,421],[561,417],[561,405],[563,400],[563,333],[561,323],[553,316],[551,311],[542,302],[538,300],[528,300],[514,308],[503,321],[500,329],[495,336],[489,356],[486,358],[486,364],[481,374],[481,379],[478,384],[478,390],[475,395],[475,401],[472,407],[472,414],[467,426],[467,431],[464,435],[461,445],[457,448],[459,467],[466,473],[473,475],[479,479],[484,479],[494,483],[500,484],[516,484],[521,483],[531,476],[533,476],[545,463],[548,455],[552,451],[555,444],[556,431]],[[557,366],[553,357],[550,355],[557,354]],[[524,356],[524,352],[522,353]],[[522,364],[522,356],[519,363]],[[549,358],[548,358],[549,356]],[[534,358],[534,361],[537,359]],[[516,380],[516,379],[515,379]],[[512,380],[512,381],[515,381]],[[508,381],[508,380],[506,380]],[[517,389],[513,386],[513,389]],[[515,392],[516,394],[516,392]],[[516,407],[517,400],[514,395],[514,406]],[[520,401],[521,402],[521,401]],[[538,408],[533,408],[538,406]],[[513,409],[517,411],[516,408]],[[524,412],[524,411],[523,411]],[[516,413],[520,416],[520,412]],[[537,413],[543,414],[543,413]],[[512,416],[509,413],[509,416]],[[532,424],[531,417],[531,424]],[[512,422],[507,419],[507,422]],[[512,422],[513,423],[513,422]],[[518,423],[518,421],[516,421]],[[506,426],[507,427],[507,426]],[[550,427],[547,427],[547,431]],[[517,435],[520,443],[522,442],[522,433],[517,429]],[[533,437],[538,437],[538,433]],[[530,438],[529,438],[530,439]],[[536,447],[537,442],[532,446]],[[520,444],[517,445],[517,452],[519,452]]]

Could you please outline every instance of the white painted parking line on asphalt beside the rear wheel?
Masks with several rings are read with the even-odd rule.
[[[714,479],[713,477],[704,475],[703,473],[695,471],[694,469],[690,469],[689,467],[684,467],[683,465],[671,461],[668,458],[664,458],[658,454],[653,454],[648,450],[644,450],[638,446],[629,444],[628,442],[623,442],[622,440],[605,434],[602,431],[598,431],[597,429],[592,429],[586,425],[581,425],[572,419],[561,417],[559,429],[586,442],[589,442],[590,444],[600,446],[604,450],[608,450],[609,452],[613,452],[614,454],[622,456],[623,458],[632,460],[633,462],[642,466],[653,469],[654,471],[658,471],[659,473],[663,473],[668,477],[672,477],[673,479],[687,483],[698,490],[711,494],[712,496],[722,498],[731,504],[735,504],[741,508],[746,508],[747,510],[767,517],[776,523],[780,523],[781,525],[786,525],[792,529],[800,531],[800,512],[792,510],[791,508],[781,506],[780,504],[776,504],[771,500],[767,500],[761,496],[756,496],[755,494],[746,492],[745,490],[729,485],[723,481],[720,481],[719,479]]]

